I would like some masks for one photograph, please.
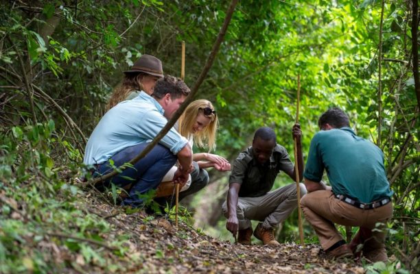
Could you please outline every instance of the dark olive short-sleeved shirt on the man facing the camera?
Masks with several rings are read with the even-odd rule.
[[[281,145],[276,145],[270,160],[261,165],[253,158],[253,147],[237,156],[233,162],[229,184],[241,185],[239,197],[259,197],[269,192],[280,171],[293,171],[294,164],[288,151]]]

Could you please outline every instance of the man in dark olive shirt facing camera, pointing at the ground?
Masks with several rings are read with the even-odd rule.
[[[301,127],[295,124],[292,129],[297,140],[299,177],[303,173],[301,151]],[[283,186],[269,192],[280,171],[295,180],[294,164],[288,152],[276,142],[276,134],[270,127],[257,129],[253,145],[240,153],[229,177],[229,192],[222,210],[226,218],[226,229],[243,245],[250,245],[253,234],[251,220],[260,221],[255,227],[254,236],[264,245],[279,245],[273,229],[284,221],[297,207],[296,184]],[[301,195],[306,193],[301,184]]]

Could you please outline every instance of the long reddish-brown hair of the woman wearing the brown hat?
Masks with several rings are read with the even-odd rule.
[[[117,88],[115,88],[113,94],[108,100],[105,111],[108,111],[111,108],[115,107],[117,103],[124,101],[128,97],[128,95],[130,95],[130,92],[134,90],[139,90],[139,91],[143,90],[141,79],[143,79],[144,75],[146,74],[145,73],[126,73],[121,84],[119,84]]]

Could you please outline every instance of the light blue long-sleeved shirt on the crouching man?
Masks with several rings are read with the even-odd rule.
[[[102,164],[127,147],[150,142],[167,123],[163,112],[162,106],[143,91],[111,108],[89,137],[84,164]],[[176,155],[188,140],[172,128],[159,143]]]

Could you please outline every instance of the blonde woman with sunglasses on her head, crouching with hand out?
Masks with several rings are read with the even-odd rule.
[[[218,116],[210,101],[200,99],[191,102],[183,114],[180,116],[174,127],[178,129],[180,135],[189,140],[191,147],[207,147],[209,151],[215,149],[215,136],[218,130]],[[179,200],[191,195],[198,190],[204,188],[209,183],[209,174],[205,169],[213,167],[218,171],[230,171],[231,164],[220,155],[212,153],[194,153],[193,164],[194,169],[191,172],[191,181],[187,182],[179,193]],[[172,195],[174,177],[176,167],[171,169],[163,178],[156,195],[163,197]]]

